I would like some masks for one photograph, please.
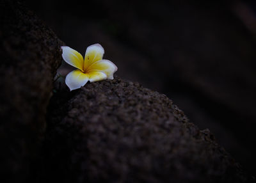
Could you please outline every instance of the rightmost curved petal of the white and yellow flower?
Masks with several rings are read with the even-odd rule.
[[[109,60],[100,60],[90,65],[87,70],[88,72],[91,72],[92,70],[100,70],[107,75],[108,79],[113,79],[113,74],[116,72],[117,67]]]

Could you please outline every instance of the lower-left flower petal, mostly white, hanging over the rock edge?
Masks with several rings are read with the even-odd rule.
[[[70,91],[81,88],[89,80],[88,74],[84,74],[81,70],[73,70],[66,76],[65,83],[67,84]]]

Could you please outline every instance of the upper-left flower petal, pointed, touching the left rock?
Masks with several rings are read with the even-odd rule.
[[[83,56],[75,51],[74,49],[68,47],[68,46],[62,46],[62,58],[65,60],[68,64],[79,68],[83,71],[83,65],[84,65],[84,59]]]

